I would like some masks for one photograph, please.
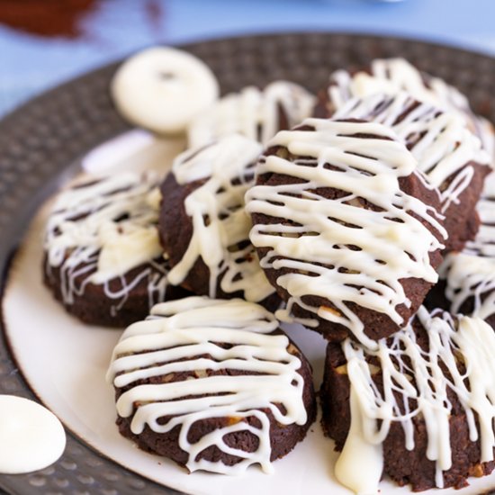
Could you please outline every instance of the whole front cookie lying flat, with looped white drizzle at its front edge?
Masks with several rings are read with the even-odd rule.
[[[190,472],[273,470],[315,419],[311,365],[272,313],[239,299],[157,304],[115,347],[119,430]]]

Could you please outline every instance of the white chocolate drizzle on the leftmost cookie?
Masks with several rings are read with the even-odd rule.
[[[105,296],[115,301],[115,314],[143,280],[150,307],[164,300],[166,267],[156,261],[163,253],[157,193],[154,175],[123,173],[59,194],[46,229],[46,270],[60,269],[66,304],[84,294],[87,284],[101,284]],[[139,273],[126,277],[139,266]],[[112,290],[110,282],[115,279],[119,289]]]

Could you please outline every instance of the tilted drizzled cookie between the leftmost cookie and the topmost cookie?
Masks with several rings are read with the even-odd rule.
[[[249,241],[244,194],[254,183],[261,145],[238,134],[175,159],[161,186],[159,229],[169,280],[223,299],[280,304]]]

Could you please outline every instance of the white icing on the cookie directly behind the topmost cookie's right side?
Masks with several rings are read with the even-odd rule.
[[[336,112],[336,119],[373,120],[392,127],[418,160],[419,170],[442,192],[442,212],[459,203],[473,178],[473,165],[489,166],[491,157],[482,142],[467,129],[458,112],[442,112],[419,103],[405,92],[353,98]],[[454,175],[450,183],[447,179]]]

